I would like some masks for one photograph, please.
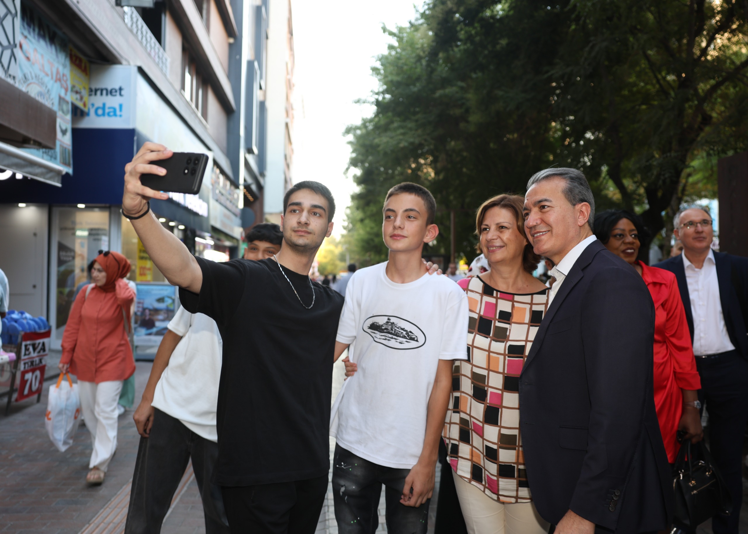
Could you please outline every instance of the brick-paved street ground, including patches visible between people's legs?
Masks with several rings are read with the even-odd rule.
[[[138,362],[135,372],[135,399],[140,399],[151,364]],[[128,502],[129,482],[135,467],[140,437],[132,422],[132,410],[120,417],[117,454],[111,461],[104,485],[89,488],[85,483],[91,438],[81,426],[73,446],[59,452],[44,429],[49,385],[42,402],[35,399],[13,404],[10,415],[0,415],[0,534],[120,534]],[[334,366],[333,399],[343,384],[343,365]],[[330,454],[334,440],[330,440]],[[189,470],[188,470],[189,471]],[[429,509],[429,533],[433,533],[438,499],[439,471],[432,506]],[[748,510],[748,483],[744,480],[744,511]],[[387,532],[384,524],[384,499],[378,506],[378,532]],[[748,513],[742,514],[741,533],[748,533]],[[205,533],[203,505],[191,472],[183,479],[183,491],[175,495],[171,512],[164,521],[163,534]],[[317,534],[337,534],[332,488]],[[709,524],[698,534],[711,534]]]

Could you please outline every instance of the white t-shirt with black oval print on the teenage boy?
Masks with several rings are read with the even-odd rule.
[[[337,340],[358,365],[332,408],[330,433],[361,458],[409,469],[418,461],[439,360],[467,358],[468,298],[447,277],[409,283],[387,263],[361,268],[346,288]]]

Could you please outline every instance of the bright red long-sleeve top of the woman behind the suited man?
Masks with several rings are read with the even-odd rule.
[[[683,414],[681,390],[701,389],[701,379],[675,274],[641,262],[639,265],[654,301],[654,408],[672,464],[681,446],[676,439]]]

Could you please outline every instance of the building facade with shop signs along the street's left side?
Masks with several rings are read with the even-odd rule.
[[[0,4],[14,41],[0,43],[0,100],[13,102],[0,106],[0,268],[11,307],[49,319],[53,348],[99,250],[128,257],[131,280],[164,280],[120,214],[124,165],[144,142],[209,156],[199,194],[151,201],[194,254],[238,257],[265,220],[269,4]]]

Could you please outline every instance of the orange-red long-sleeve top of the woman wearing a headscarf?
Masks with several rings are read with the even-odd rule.
[[[135,360],[122,310],[129,323],[135,292],[122,278],[113,292],[94,286],[87,297],[86,289],[81,289],[70,310],[60,363],[70,363],[70,372],[82,381],[126,380],[135,372]]]

